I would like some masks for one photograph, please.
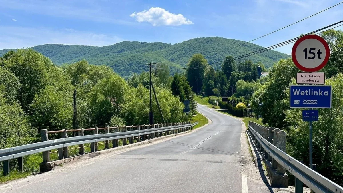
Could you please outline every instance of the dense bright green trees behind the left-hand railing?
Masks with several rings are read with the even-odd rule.
[[[0,149],[39,141],[40,129],[72,129],[75,89],[78,127],[147,124],[149,82],[148,73],[126,81],[85,60],[57,67],[34,50],[10,51],[0,58]],[[165,121],[185,121],[181,101],[194,95],[185,77],[156,69],[153,83]],[[162,123],[155,100],[153,112]]]

